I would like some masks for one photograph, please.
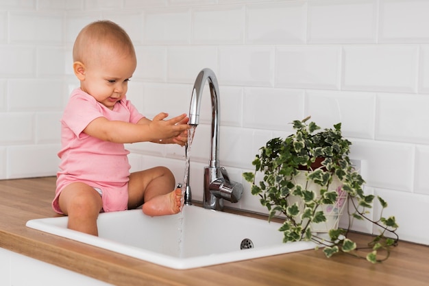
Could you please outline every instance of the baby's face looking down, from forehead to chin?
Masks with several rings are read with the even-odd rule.
[[[99,57],[86,66],[85,79],[81,88],[92,95],[97,102],[109,109],[127,93],[128,80],[136,69],[136,58],[132,55]]]

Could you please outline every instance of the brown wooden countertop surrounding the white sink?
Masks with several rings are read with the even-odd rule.
[[[56,178],[0,180],[0,247],[114,285],[428,285],[429,248],[400,242],[384,263],[306,250],[192,270],[172,270],[27,228],[51,210]],[[355,239],[365,238],[354,234]]]

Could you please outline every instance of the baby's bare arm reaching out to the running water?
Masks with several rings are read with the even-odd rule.
[[[140,120],[138,124],[98,117],[86,126],[84,133],[103,141],[134,143],[173,139],[188,130],[189,126],[183,123],[187,122],[186,115],[164,120],[167,116],[167,113],[160,113],[154,117],[154,120]]]

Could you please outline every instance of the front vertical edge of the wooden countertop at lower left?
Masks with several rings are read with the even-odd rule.
[[[173,281],[135,269],[140,268],[140,264],[147,263],[146,261],[45,234],[39,230],[28,230],[34,233],[32,237],[37,238],[0,230],[0,247],[118,286],[142,280],[157,285],[178,285],[170,283]],[[39,237],[45,237],[47,241],[42,241]],[[117,262],[112,262],[112,259],[117,259]]]

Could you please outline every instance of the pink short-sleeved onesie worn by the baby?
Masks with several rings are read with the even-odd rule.
[[[62,213],[58,196],[71,182],[84,182],[101,190],[103,211],[123,211],[128,203],[130,164],[127,150],[122,143],[102,141],[82,131],[98,117],[111,121],[137,123],[143,118],[124,97],[110,110],[80,88],[71,93],[61,119],[61,158],[57,173],[56,196],[52,207]]]

